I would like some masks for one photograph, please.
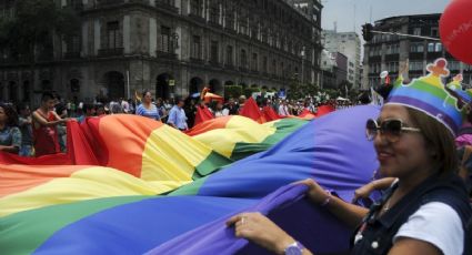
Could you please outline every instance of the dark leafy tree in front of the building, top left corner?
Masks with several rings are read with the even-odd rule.
[[[0,48],[7,50],[9,59],[30,64],[34,76],[38,58],[44,52],[52,54],[53,35],[66,38],[78,32],[80,18],[72,8],[61,8],[54,0],[17,0],[14,16],[0,18]]]

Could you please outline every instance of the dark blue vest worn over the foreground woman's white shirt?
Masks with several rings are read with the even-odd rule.
[[[442,202],[450,205],[461,217],[464,227],[464,254],[472,254],[472,208],[463,181],[455,174],[439,177],[431,176],[402,197],[392,208],[378,217],[383,204],[393,194],[396,185],[390,187],[384,196],[374,203],[363,223],[353,236],[351,254],[388,254],[393,236],[401,225],[415,213],[421,205]],[[362,233],[362,234],[360,234]],[[451,233],[454,234],[454,233]]]

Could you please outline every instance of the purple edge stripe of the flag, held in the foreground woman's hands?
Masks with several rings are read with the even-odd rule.
[[[314,253],[348,251],[351,234],[349,228],[329,212],[307,200],[305,191],[307,186],[302,184],[287,185],[242,212],[268,215]],[[225,222],[233,215],[235,214],[188,232],[147,254],[269,254],[261,247],[234,236],[234,228],[225,226]],[[333,251],[333,247],[338,251]]]

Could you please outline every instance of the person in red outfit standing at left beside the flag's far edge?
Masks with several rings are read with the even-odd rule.
[[[41,96],[41,106],[32,113],[33,146],[36,156],[60,153],[57,125],[68,119],[61,119],[53,110],[56,98],[49,92]]]

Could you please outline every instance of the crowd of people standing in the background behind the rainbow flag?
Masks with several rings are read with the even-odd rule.
[[[225,101],[205,101],[203,98],[154,99],[145,90],[137,100],[111,100],[109,102],[83,103],[77,99],[61,100],[56,94],[46,92],[41,105],[31,111],[28,103],[0,104],[0,151],[20,156],[41,156],[66,152],[67,121],[84,122],[87,118],[107,114],[137,114],[161,121],[170,126],[188,131],[195,123],[197,109],[207,109],[213,118],[238,115],[244,108],[247,98],[227,99]],[[299,115],[303,111],[315,114],[318,106],[330,104],[333,108],[347,108],[347,102],[315,102],[314,98],[287,100],[279,98],[255,98],[258,106],[272,108],[280,116]]]

